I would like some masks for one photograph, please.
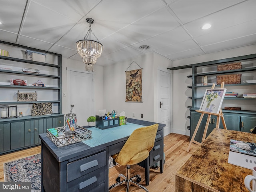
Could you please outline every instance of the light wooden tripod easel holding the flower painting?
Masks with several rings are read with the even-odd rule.
[[[212,89],[214,89],[214,87],[215,87],[215,84],[212,85]],[[222,82],[220,88],[224,88],[224,82]],[[220,127],[220,118],[221,118],[224,129],[227,129],[226,123],[225,123],[225,120],[224,120],[224,116],[223,116],[223,113],[222,113],[222,110],[221,110],[221,109],[220,109],[220,112],[219,112],[219,113],[210,113],[210,112],[199,111],[199,110],[196,110],[196,112],[199,112],[199,113],[202,113],[202,114],[201,114],[201,116],[200,116],[200,118],[199,118],[198,124],[197,124],[197,126],[196,126],[196,130],[195,130],[195,132],[194,132],[194,134],[193,134],[193,136],[192,136],[192,138],[191,138],[191,141],[190,141],[190,143],[189,143],[189,145],[188,145],[188,148],[187,148],[187,150],[186,150],[187,152],[189,152],[192,143],[195,143],[195,144],[198,144],[198,145],[201,145],[201,144],[202,144],[202,143],[200,143],[200,142],[195,141],[194,138],[195,138],[196,133],[197,133],[197,131],[198,131],[198,128],[199,128],[199,126],[200,126],[200,124],[201,124],[201,122],[202,122],[202,119],[203,119],[203,117],[204,117],[204,114],[208,114],[208,118],[207,118],[206,125],[205,125],[205,128],[204,128],[204,134],[203,134],[202,142],[204,142],[204,140],[205,140],[205,138],[206,138],[206,133],[207,133],[208,126],[209,126],[209,122],[210,122],[210,118],[211,118],[212,115],[217,116],[216,128],[219,128],[219,127]]]

